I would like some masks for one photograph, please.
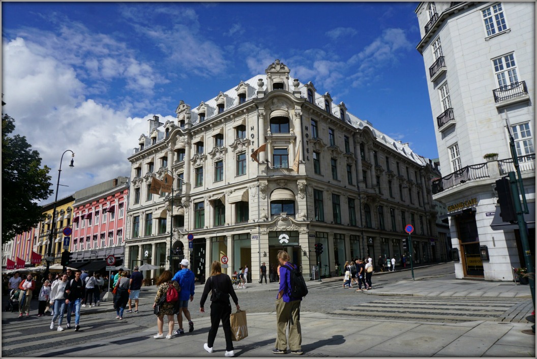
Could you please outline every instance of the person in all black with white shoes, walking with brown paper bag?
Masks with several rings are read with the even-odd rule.
[[[266,281],[266,277],[265,277]],[[229,323],[229,317],[231,315],[231,304],[229,303],[229,296],[233,299],[237,310],[240,309],[238,305],[238,298],[233,289],[233,283],[229,279],[229,276],[222,274],[222,266],[219,261],[214,261],[211,265],[211,276],[209,280],[205,282],[203,294],[200,299],[200,313],[205,313],[205,301],[211,291],[211,329],[209,329],[209,335],[207,342],[204,344],[204,349],[209,353],[213,353],[214,340],[216,333],[218,332],[218,326],[222,322],[222,328],[224,330],[224,336],[226,337],[226,353],[224,356],[235,356],[233,341],[231,337],[231,325]]]

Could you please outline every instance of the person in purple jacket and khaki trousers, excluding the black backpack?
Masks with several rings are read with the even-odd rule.
[[[300,328],[300,303],[302,298],[291,296],[291,257],[286,251],[278,251],[280,262],[280,288],[276,296],[277,335],[273,354],[287,354],[287,336],[285,328],[289,327],[289,349],[292,354],[302,355],[302,331]]]

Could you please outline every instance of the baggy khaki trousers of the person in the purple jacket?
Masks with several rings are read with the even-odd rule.
[[[302,331],[300,329],[300,301],[284,302],[284,299],[276,299],[276,324],[278,333],[276,335],[276,348],[287,350],[286,327],[289,327],[289,349],[302,349]]]

